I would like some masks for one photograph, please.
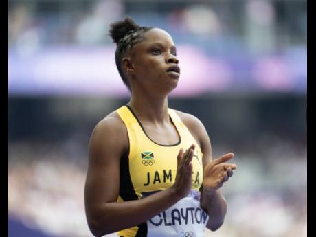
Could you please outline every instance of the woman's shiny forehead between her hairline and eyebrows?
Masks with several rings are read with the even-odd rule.
[[[142,41],[142,43],[140,43],[139,46],[146,46],[153,43],[161,43],[166,46],[174,45],[174,42],[170,34],[159,28],[153,28],[151,30],[148,30],[148,32],[145,32],[144,37],[144,41]]]

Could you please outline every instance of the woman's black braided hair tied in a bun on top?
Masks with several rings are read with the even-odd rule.
[[[126,84],[126,87],[131,91],[131,85],[122,69],[122,58],[124,58],[126,52],[128,52],[134,45],[142,42],[144,40],[144,33],[153,27],[142,27],[137,25],[137,23],[129,17],[126,17],[124,21],[112,23],[110,26],[110,36],[113,38],[113,42],[117,45],[115,51],[116,67],[124,84]]]

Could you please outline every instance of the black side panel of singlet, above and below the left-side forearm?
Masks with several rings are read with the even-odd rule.
[[[129,172],[129,159],[128,151],[121,157],[120,161],[120,197],[124,201],[138,200],[138,196],[135,193],[133,183],[131,180],[131,174]],[[138,225],[138,231],[135,237],[146,237],[147,236],[147,223]]]

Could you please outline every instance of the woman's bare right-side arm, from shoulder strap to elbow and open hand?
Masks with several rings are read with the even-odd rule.
[[[210,216],[207,228],[214,231],[223,225],[227,212],[227,203],[218,188],[221,188],[228,177],[232,176],[232,170],[236,168],[236,165],[225,163],[232,159],[234,154],[228,153],[219,159],[212,160],[210,138],[202,122],[196,117],[184,113],[181,113],[181,119],[194,135],[196,141],[200,143],[203,153],[204,177],[201,190],[201,207]]]

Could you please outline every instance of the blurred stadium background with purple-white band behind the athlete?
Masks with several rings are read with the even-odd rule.
[[[170,107],[199,117],[214,157],[235,153],[238,170],[221,189],[225,223],[205,236],[307,236],[306,8],[303,0],[9,0],[9,236],[92,236],[87,147],[95,124],[128,102],[107,36],[126,15],[172,35],[181,78]]]

